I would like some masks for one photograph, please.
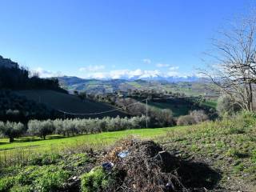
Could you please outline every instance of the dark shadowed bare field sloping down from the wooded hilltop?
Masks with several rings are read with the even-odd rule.
[[[90,100],[85,100],[82,102],[78,97],[70,94],[62,94],[54,90],[19,90],[16,91],[17,94],[26,96],[28,99],[32,99],[36,102],[42,102],[54,109],[64,110],[72,113],[95,113],[106,110],[113,110],[112,106],[105,103],[91,102]],[[122,112],[115,111],[105,116],[124,116]],[[102,117],[103,115],[97,115],[97,117]],[[94,115],[90,116],[95,118]]]

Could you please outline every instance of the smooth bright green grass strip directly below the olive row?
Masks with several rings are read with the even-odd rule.
[[[102,146],[110,145],[118,139],[126,138],[130,135],[140,138],[156,138],[166,134],[170,129],[173,128],[122,130],[102,134],[78,135],[70,138],[65,138],[60,135],[51,135],[46,137],[46,140],[36,137],[26,137],[15,139],[13,143],[9,143],[7,138],[2,138],[0,139],[0,154],[10,153],[15,150],[56,151],[76,146],[101,148]]]

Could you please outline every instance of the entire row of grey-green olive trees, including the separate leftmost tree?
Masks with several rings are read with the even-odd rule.
[[[148,118],[150,122],[150,118]],[[26,128],[27,127],[27,128]],[[62,134],[70,136],[75,134],[94,134],[104,131],[129,130],[146,127],[146,116],[133,118],[88,118],[88,119],[55,119],[55,120],[30,120],[27,126],[21,122],[0,122],[2,136],[14,138],[22,135],[38,136],[46,139],[49,134]]]

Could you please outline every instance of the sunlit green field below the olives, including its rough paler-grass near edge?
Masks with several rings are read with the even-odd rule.
[[[77,153],[86,150],[103,150],[122,138],[130,136],[154,139],[166,135],[170,128],[122,130],[101,134],[84,134],[74,137],[50,135],[46,140],[38,137],[16,138],[9,143],[7,138],[0,139],[0,166],[19,165],[29,161],[30,155],[47,153],[65,154]]]

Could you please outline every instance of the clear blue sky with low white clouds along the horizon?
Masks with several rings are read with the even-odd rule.
[[[188,75],[249,0],[0,0],[0,55],[43,77]]]

